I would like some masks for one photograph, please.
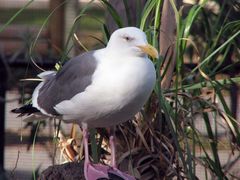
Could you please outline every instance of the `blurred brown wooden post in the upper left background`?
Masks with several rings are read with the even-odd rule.
[[[50,12],[54,11],[63,0],[50,0]],[[56,9],[49,23],[50,41],[54,55],[59,55],[64,43],[64,5]]]

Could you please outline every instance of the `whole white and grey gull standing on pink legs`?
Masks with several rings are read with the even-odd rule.
[[[114,127],[130,120],[151,95],[156,71],[148,58],[158,57],[146,34],[136,27],[114,31],[105,48],[85,52],[61,70],[45,71],[32,94],[32,104],[13,110],[77,123],[83,130],[84,176],[87,180],[134,177],[117,169],[115,137],[110,136],[111,166],[89,159],[88,128]]]

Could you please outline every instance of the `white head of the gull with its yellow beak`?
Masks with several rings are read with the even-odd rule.
[[[126,27],[114,31],[107,48],[121,56],[158,57],[157,50],[148,44],[146,34],[136,27]]]

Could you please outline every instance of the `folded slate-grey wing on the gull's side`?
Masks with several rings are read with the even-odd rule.
[[[70,59],[55,76],[46,78],[38,91],[38,107],[48,114],[57,115],[56,104],[83,92],[92,83],[97,66],[93,53],[86,52]]]

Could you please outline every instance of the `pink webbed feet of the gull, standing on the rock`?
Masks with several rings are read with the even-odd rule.
[[[86,180],[135,180],[134,177],[117,168],[102,164],[89,164],[86,168]]]

